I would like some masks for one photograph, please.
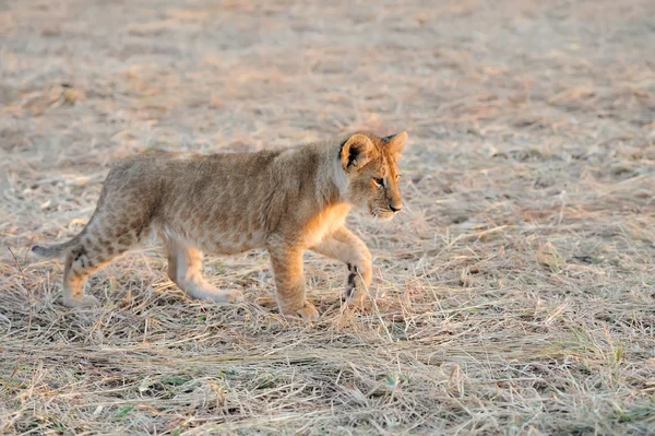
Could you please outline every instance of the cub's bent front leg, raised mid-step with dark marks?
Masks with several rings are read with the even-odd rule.
[[[373,278],[372,258],[366,244],[345,226],[340,227],[321,244],[311,247],[312,251],[337,259],[348,269],[348,281],[344,299],[354,305],[361,305]]]

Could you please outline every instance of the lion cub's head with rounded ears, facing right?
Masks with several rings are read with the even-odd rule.
[[[386,138],[356,133],[343,143],[341,164],[348,178],[348,202],[383,221],[403,209],[397,163],[406,142],[407,133],[402,132]]]

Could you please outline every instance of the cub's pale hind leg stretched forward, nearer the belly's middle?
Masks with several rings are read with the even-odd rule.
[[[168,276],[192,298],[216,303],[243,301],[239,291],[219,291],[202,276],[202,251],[178,241],[166,241]]]

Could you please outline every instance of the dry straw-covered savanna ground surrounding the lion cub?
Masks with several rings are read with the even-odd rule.
[[[0,432],[655,431],[655,3],[0,3]],[[406,129],[404,213],[350,227],[374,304],[308,255],[323,317],[187,299],[155,248],[59,303],[34,243],[84,225],[112,163]],[[11,249],[11,251],[10,251]],[[13,252],[13,255],[12,255]],[[15,256],[15,257],[14,257]]]

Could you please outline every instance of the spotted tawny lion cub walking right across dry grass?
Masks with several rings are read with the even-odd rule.
[[[36,246],[37,255],[66,254],[63,304],[97,304],[84,295],[93,272],[158,236],[168,275],[193,298],[243,298],[201,275],[203,252],[233,255],[265,248],[277,304],[285,317],[318,319],[305,298],[302,252],[338,259],[348,268],[345,297],[357,304],[372,278],[371,255],[344,226],[350,207],[381,220],[401,210],[397,162],[407,133],[356,133],[308,145],[240,154],[145,154],[118,163],[105,180],[84,229],[68,243]]]

